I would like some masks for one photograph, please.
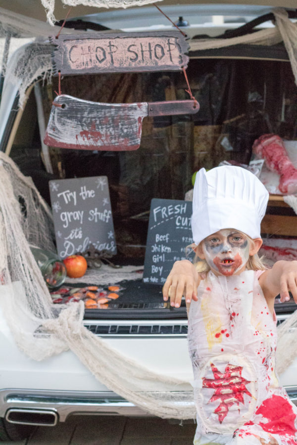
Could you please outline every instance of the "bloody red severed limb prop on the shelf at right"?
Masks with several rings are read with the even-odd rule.
[[[277,134],[263,134],[252,146],[253,152],[265,159],[267,167],[280,177],[279,189],[282,193],[297,192],[297,169],[289,159],[283,140]]]

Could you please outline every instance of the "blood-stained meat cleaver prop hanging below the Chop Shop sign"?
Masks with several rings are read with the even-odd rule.
[[[144,117],[194,114],[198,110],[194,100],[101,103],[61,94],[53,101],[44,143],[81,150],[137,150]]]

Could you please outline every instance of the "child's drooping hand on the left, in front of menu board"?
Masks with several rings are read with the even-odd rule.
[[[197,288],[200,283],[200,276],[191,261],[176,261],[163,286],[163,299],[168,300],[170,305],[179,308],[182,296],[185,295],[186,303],[191,300],[197,301]]]

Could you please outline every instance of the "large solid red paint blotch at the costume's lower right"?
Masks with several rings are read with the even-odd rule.
[[[261,414],[268,420],[266,423],[259,422],[267,433],[295,435],[297,432],[296,414],[293,412],[291,403],[283,397],[273,395],[270,399],[264,400],[256,414]]]

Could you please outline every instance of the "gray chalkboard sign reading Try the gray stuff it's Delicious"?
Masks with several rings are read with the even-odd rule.
[[[63,259],[93,244],[116,254],[106,176],[49,181],[58,255]]]

